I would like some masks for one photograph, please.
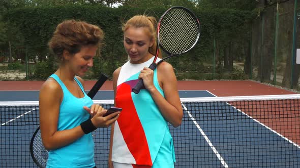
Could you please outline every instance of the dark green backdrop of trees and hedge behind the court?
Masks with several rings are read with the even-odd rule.
[[[0,63],[26,71],[27,80],[44,80],[57,65],[47,49],[56,25],[84,20],[105,32],[103,50],[85,79],[109,75],[127,61],[122,22],[137,14],[157,19],[172,6],[185,6],[200,20],[200,40],[182,57],[170,59],[178,80],[254,79],[299,88],[295,48],[300,33],[298,0],[2,0]],[[277,8],[278,7],[278,8]],[[296,20],[298,11],[299,17]],[[279,14],[279,19],[277,19]],[[297,25],[296,25],[297,24]],[[296,25],[296,26],[295,26]],[[277,27],[279,30],[277,31]],[[27,56],[27,57],[26,57]],[[27,59],[26,59],[27,58]],[[26,66],[29,63],[28,66]],[[18,65],[18,66],[16,66]],[[3,79],[2,79],[3,80]],[[5,79],[4,79],[5,80]]]

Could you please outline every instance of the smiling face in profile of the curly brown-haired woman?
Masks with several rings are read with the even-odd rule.
[[[79,76],[85,74],[85,72],[93,66],[93,58],[96,56],[97,46],[83,46],[80,52],[69,57],[69,63],[71,70]]]

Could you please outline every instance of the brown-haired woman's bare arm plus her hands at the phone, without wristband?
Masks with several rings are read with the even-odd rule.
[[[40,129],[43,145],[47,150],[69,145],[84,135],[80,125],[73,129],[57,131],[59,106],[63,96],[61,87],[53,79],[48,79],[41,87],[39,99]],[[95,115],[91,118],[91,121],[96,128],[108,127],[118,118],[116,115],[119,114],[119,112],[115,112],[102,117],[106,110],[98,104],[92,105],[91,109],[88,107],[82,108],[87,112],[91,112],[91,109],[94,110]]]

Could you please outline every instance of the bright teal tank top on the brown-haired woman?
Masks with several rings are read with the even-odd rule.
[[[64,93],[59,107],[57,131],[73,129],[89,118],[89,113],[83,106],[91,107],[93,101],[85,94],[81,82],[76,77],[74,80],[84,93],[83,98],[73,96],[56,74],[50,77],[59,83]],[[83,135],[67,146],[50,150],[46,167],[95,167],[92,133]]]

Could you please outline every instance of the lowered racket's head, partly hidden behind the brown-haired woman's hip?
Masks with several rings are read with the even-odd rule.
[[[42,143],[40,127],[35,131],[30,142],[30,154],[37,166],[44,168],[47,164],[48,151]]]

